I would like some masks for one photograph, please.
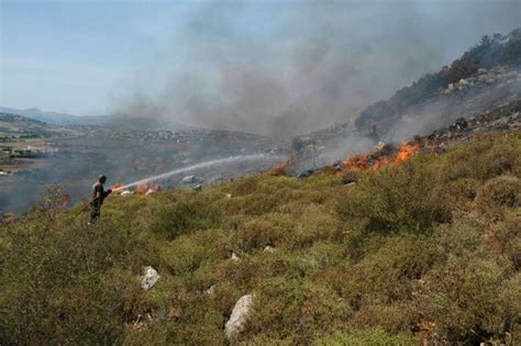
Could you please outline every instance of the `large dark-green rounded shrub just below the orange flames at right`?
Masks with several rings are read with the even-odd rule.
[[[434,169],[420,159],[385,168],[344,192],[337,211],[344,220],[366,220],[372,232],[424,232],[451,220],[451,196],[437,180]]]

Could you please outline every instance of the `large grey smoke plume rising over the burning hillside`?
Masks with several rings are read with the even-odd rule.
[[[352,120],[519,25],[519,11],[517,0],[202,3],[111,107],[288,138]]]

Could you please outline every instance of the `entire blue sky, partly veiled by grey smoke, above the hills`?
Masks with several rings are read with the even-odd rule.
[[[0,0],[0,105],[265,134],[348,119],[521,26],[519,0]]]

